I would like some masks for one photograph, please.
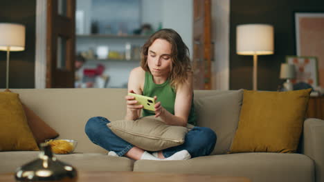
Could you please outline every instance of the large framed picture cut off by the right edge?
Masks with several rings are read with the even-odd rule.
[[[296,55],[317,58],[318,85],[324,88],[324,12],[294,12],[294,21]]]

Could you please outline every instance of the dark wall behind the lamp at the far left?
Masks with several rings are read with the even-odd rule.
[[[0,22],[26,26],[26,48],[10,52],[9,88],[35,87],[36,0],[1,1]],[[6,52],[0,51],[0,88],[6,87]]]

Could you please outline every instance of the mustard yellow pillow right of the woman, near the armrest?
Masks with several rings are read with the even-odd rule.
[[[311,89],[289,92],[244,90],[231,152],[296,152]]]

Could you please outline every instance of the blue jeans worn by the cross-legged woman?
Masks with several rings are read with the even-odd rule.
[[[96,145],[105,148],[105,150],[112,150],[116,152],[118,156],[123,156],[133,148],[134,145],[114,134],[114,132],[107,127],[107,123],[110,123],[110,121],[104,117],[92,117],[85,125],[85,132],[89,139]],[[207,156],[213,152],[216,140],[217,136],[213,130],[206,127],[195,126],[195,128],[192,128],[192,130],[186,134],[183,144],[167,148],[162,151],[162,154],[167,158],[181,150],[188,150],[191,157]]]

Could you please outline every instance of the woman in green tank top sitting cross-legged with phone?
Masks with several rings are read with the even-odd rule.
[[[197,125],[188,48],[180,35],[172,29],[159,30],[143,45],[141,54],[141,66],[129,74],[128,90],[156,99],[155,112],[143,110],[143,116],[155,115],[168,125]],[[126,96],[125,99],[125,119],[141,117],[143,105],[136,105],[134,97]],[[151,154],[116,136],[107,127],[109,122],[103,117],[89,119],[85,128],[89,139],[111,151],[110,155],[125,155],[135,160],[184,160],[206,156],[213,151],[217,139],[210,128],[196,126],[186,134],[182,145]]]

